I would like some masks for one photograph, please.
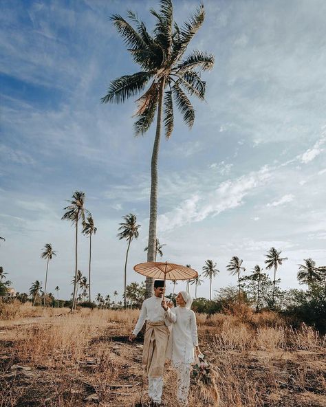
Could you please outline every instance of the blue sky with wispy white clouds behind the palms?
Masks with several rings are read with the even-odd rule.
[[[182,23],[198,1],[174,1]],[[146,261],[150,162],[155,126],[133,135],[135,98],[101,104],[110,80],[140,69],[109,17],[138,12],[148,29],[155,0],[2,0],[0,5],[0,265],[18,292],[45,281],[69,298],[74,228],[62,221],[75,190],[85,192],[98,232],[92,292],[121,299],[127,243],[122,216],[140,223],[133,265]],[[300,287],[298,264],[326,262],[326,2],[204,0],[206,19],[188,48],[215,55],[203,74],[206,102],[191,99],[193,129],[175,112],[159,159],[157,236],[162,261],[202,272],[217,263],[213,289],[235,285],[232,256],[246,274],[273,246],[288,258],[283,289]],[[79,236],[78,268],[88,272],[89,240]],[[272,272],[269,272],[272,276]],[[184,289],[179,283],[176,289]],[[168,285],[168,292],[173,286]],[[193,292],[193,287],[191,287]],[[209,295],[209,282],[198,287]]]

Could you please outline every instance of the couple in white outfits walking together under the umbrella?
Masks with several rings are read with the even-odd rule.
[[[149,397],[160,406],[163,391],[165,359],[172,360],[177,370],[177,399],[181,406],[188,404],[191,364],[199,355],[195,313],[190,294],[177,294],[177,308],[162,300],[164,281],[154,282],[154,295],[144,300],[138,322],[129,340],[133,341],[146,320],[142,363],[149,376]],[[195,352],[194,352],[195,351]]]

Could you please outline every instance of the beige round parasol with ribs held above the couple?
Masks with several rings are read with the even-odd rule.
[[[155,280],[164,280],[164,288],[166,280],[190,280],[191,278],[198,277],[196,270],[184,265],[167,263],[167,261],[165,263],[151,261],[136,264],[133,270],[142,274],[142,276],[155,278]]]

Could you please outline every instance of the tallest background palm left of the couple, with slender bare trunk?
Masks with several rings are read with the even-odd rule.
[[[78,272],[78,222],[82,219],[85,222],[85,214],[90,215],[89,210],[84,208],[85,203],[85,193],[82,191],[75,191],[72,195],[72,201],[69,206],[63,208],[65,214],[61,219],[71,221],[72,225],[76,228],[76,238],[75,238],[75,283],[74,283],[74,294],[72,294],[72,310],[74,310],[75,296],[76,296],[76,282],[77,282],[77,272]]]

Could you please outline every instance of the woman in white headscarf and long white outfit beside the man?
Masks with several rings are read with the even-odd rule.
[[[195,355],[198,356],[200,351],[196,316],[194,311],[191,310],[193,299],[190,294],[182,291],[177,294],[176,302],[177,308],[171,310],[171,314],[174,314],[171,322],[174,323],[168,355],[177,370],[177,400],[182,406],[187,406],[191,364],[195,362]],[[170,304],[166,306],[171,307]]]

